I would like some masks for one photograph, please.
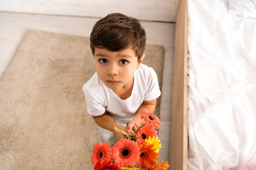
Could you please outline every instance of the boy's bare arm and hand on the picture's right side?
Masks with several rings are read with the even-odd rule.
[[[132,119],[131,122],[128,123],[128,126],[126,128],[126,132],[130,132],[131,134],[133,134],[133,131],[136,132],[137,128],[135,126],[135,123],[137,123],[137,125],[140,126],[140,123],[142,122],[142,120],[140,119],[140,113],[141,113],[141,109],[142,108],[147,108],[148,111],[150,111],[151,113],[154,113],[154,110],[156,108],[156,104],[157,104],[157,99],[153,99],[151,101],[143,101],[142,105],[140,106],[139,110],[136,113],[136,116],[134,117],[134,119]]]

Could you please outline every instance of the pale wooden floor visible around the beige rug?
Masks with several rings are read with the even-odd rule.
[[[0,76],[9,63],[26,29],[40,29],[79,36],[90,36],[96,18],[61,17],[36,14],[0,12]],[[165,62],[161,96],[160,120],[162,126],[158,136],[162,143],[159,160],[169,160],[169,129],[172,90],[172,57],[174,50],[175,24],[142,22],[147,32],[147,43],[163,45]]]

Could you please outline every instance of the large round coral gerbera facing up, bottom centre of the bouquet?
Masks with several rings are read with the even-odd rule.
[[[121,139],[112,147],[112,159],[116,164],[134,166],[140,159],[140,151],[137,143],[129,139]]]

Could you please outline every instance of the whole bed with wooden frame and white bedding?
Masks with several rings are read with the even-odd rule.
[[[173,60],[171,170],[256,170],[253,2],[180,0]]]

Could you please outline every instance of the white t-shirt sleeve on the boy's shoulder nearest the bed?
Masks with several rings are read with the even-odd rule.
[[[147,91],[144,95],[145,101],[150,101],[153,99],[157,99],[161,95],[161,91],[158,84],[157,74],[153,70],[153,68],[150,68],[147,73]]]

